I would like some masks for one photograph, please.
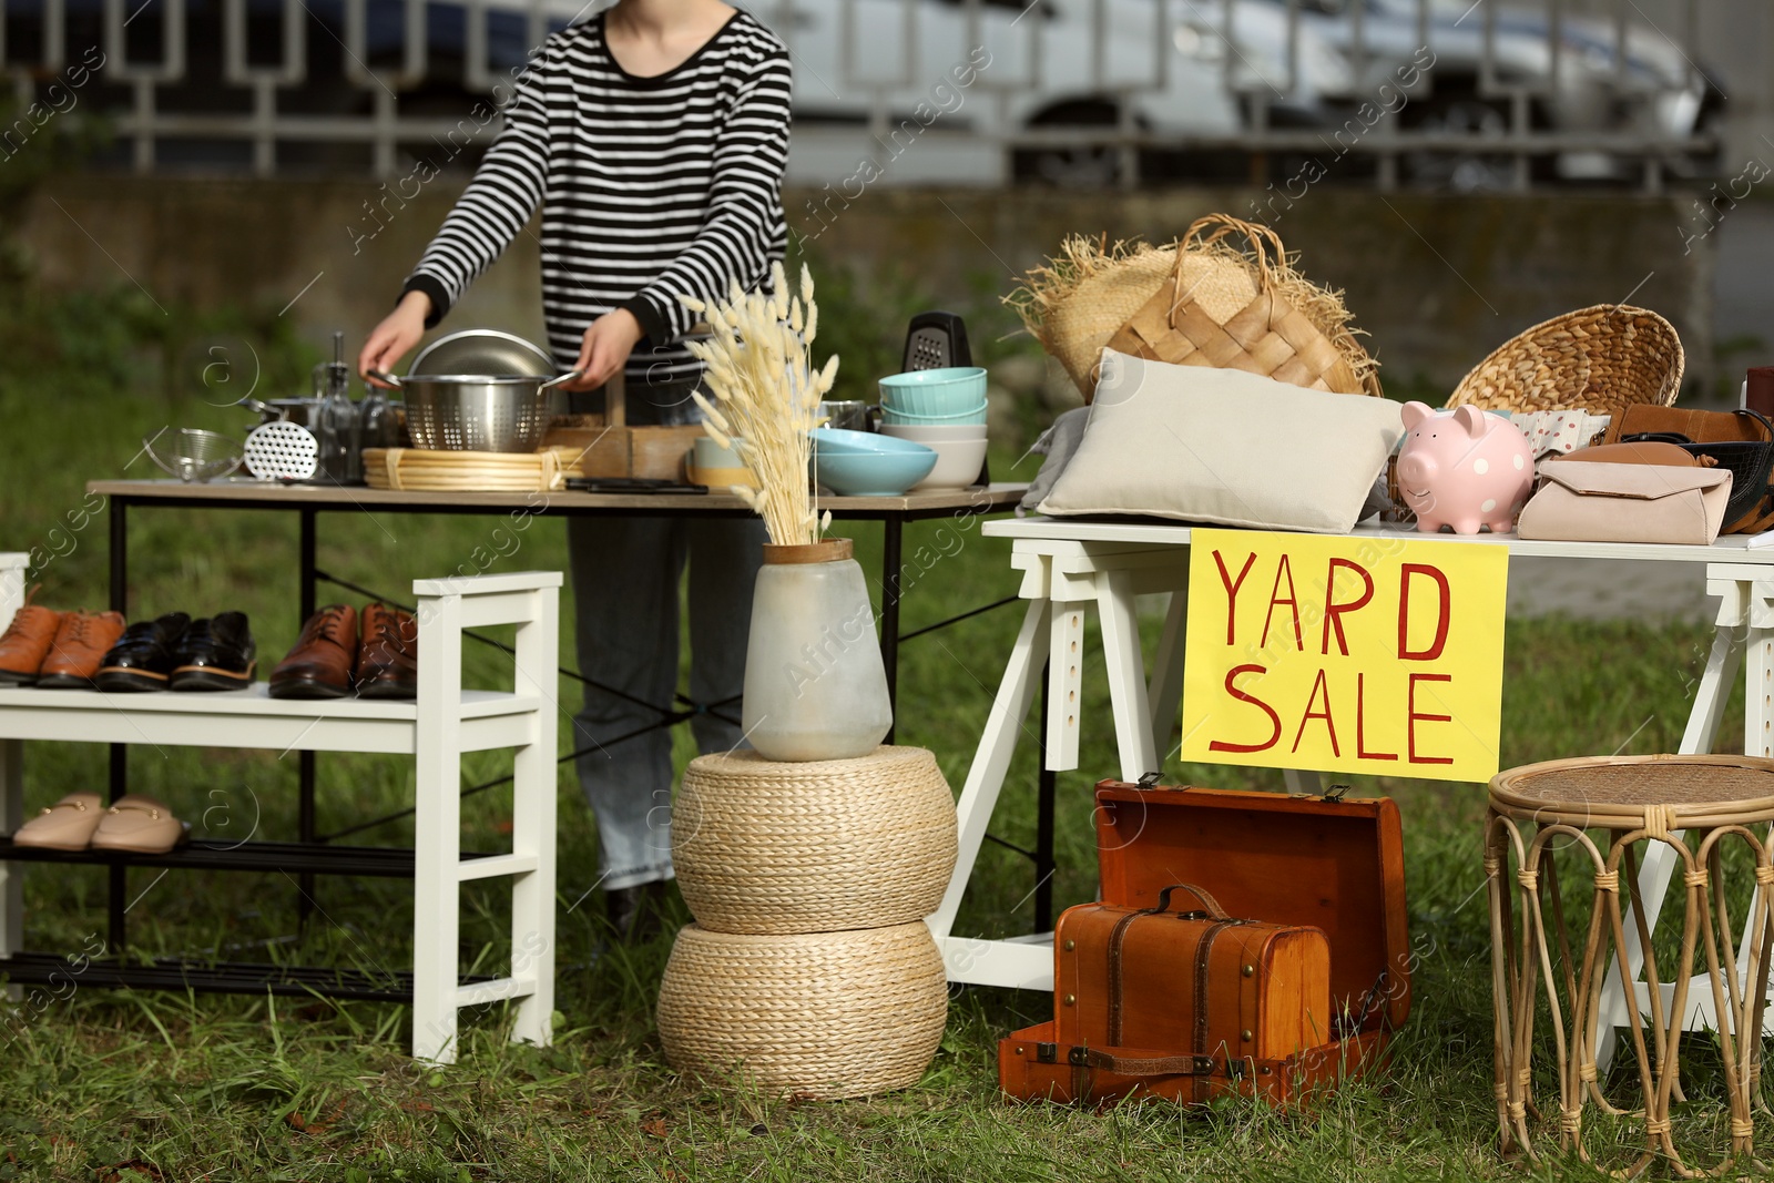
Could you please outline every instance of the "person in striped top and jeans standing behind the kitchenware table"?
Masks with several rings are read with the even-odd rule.
[[[376,326],[358,369],[392,369],[541,208],[548,342],[601,387],[617,371],[630,422],[692,422],[701,367],[683,296],[756,287],[782,257],[788,50],[720,0],[619,0],[545,44],[461,200]],[[569,362],[569,365],[566,365]],[[598,818],[621,936],[651,931],[671,862],[678,585],[688,560],[690,697],[701,750],[742,741],[738,697],[757,520],[569,518],[580,670],[575,747]]]

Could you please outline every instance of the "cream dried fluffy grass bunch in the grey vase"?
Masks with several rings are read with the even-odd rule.
[[[812,369],[807,346],[820,328],[820,309],[812,302],[812,273],[800,268],[800,294],[789,296],[782,264],[770,268],[772,294],[747,293],[733,280],[726,303],[708,305],[685,298],[683,305],[703,314],[710,341],[685,342],[708,367],[706,383],[713,399],[701,392],[703,429],[722,447],[731,447],[757,481],[756,490],[742,484],[733,495],[757,511],[777,546],[818,543],[832,514],[812,513],[807,465],[818,427],[820,403],[837,376],[837,355]]]

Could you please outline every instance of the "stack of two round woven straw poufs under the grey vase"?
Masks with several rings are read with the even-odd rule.
[[[922,748],[773,763],[703,756],[672,819],[695,915],[660,984],[665,1055],[765,1093],[836,1100],[915,1084],[947,1020],[922,917],[954,869],[954,798]]]

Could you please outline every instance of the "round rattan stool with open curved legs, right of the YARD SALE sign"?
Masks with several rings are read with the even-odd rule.
[[[1490,782],[1485,818],[1485,876],[1490,892],[1492,990],[1495,1004],[1495,1098],[1503,1148],[1519,1146],[1531,1158],[1527,1117],[1535,1110],[1533,1025],[1538,997],[1550,1011],[1558,1052],[1559,1146],[1588,1160],[1582,1144],[1582,1107],[1593,1101],[1602,1112],[1625,1114],[1602,1094],[1597,1080],[1595,1046],[1602,981],[1609,958],[1620,968],[1625,990],[1636,990],[1627,961],[1627,936],[1620,892],[1630,892],[1632,917],[1644,951],[1644,981],[1650,993],[1650,1038],[1636,1004],[1627,1006],[1632,1050],[1643,1109],[1644,1149],[1627,1174],[1637,1174],[1659,1155],[1680,1176],[1694,1176],[1676,1153],[1669,1124],[1669,1101],[1680,1098],[1676,1075],[1684,1016],[1689,1013],[1689,981],[1696,944],[1705,949],[1705,975],[1717,1020],[1719,1059],[1730,1112],[1731,1156],[1749,1156],[1754,1133],[1753,1107],[1760,1071],[1762,1011],[1769,986],[1769,952],[1774,924],[1769,915],[1769,885],[1774,866],[1769,848],[1751,832],[1774,821],[1774,761],[1746,756],[1621,756],[1563,759],[1499,773]],[[1605,853],[1586,830],[1605,830]],[[1691,832],[1684,841],[1684,830]],[[1765,832],[1765,830],[1763,830]],[[1754,857],[1749,949],[1739,960],[1731,944],[1726,883],[1721,860],[1728,839],[1737,837]],[[1652,954],[1652,933],[1639,899],[1637,842],[1668,844],[1685,885],[1687,912],[1682,921],[1680,960],[1671,968],[1673,1002],[1664,1011],[1662,979]],[[1566,851],[1595,876],[1588,935],[1581,961],[1572,960],[1565,906],[1558,890],[1556,851]],[[1515,860],[1515,885],[1522,913],[1520,931],[1511,917],[1511,892],[1504,873]],[[1708,890],[1710,889],[1710,890]],[[1545,912],[1552,913],[1552,926]],[[1554,958],[1559,972],[1554,975]],[[1563,990],[1559,990],[1563,988]],[[1561,995],[1563,993],[1563,1000]],[[1747,1034],[1746,1032],[1754,1032]],[[1721,1167],[1723,1169],[1723,1167]]]

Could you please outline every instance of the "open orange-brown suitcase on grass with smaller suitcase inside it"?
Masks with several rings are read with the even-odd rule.
[[[1387,1032],[1410,1009],[1403,841],[1391,800],[1103,780],[1096,786],[1096,846],[1103,903],[1061,917],[1056,1018],[999,1043],[1006,1094],[1093,1103],[1135,1094],[1199,1103],[1236,1091],[1286,1103],[1382,1061]],[[1212,903],[1181,905],[1187,892],[1180,883],[1196,885]],[[1224,924],[1206,958],[1197,952],[1205,977],[1194,972],[1196,963],[1151,968],[1142,945],[1123,947],[1114,1041],[1109,1006],[1118,991],[1109,983],[1107,951],[1089,958],[1103,967],[1100,972],[1086,968],[1073,917],[1100,915],[1089,922],[1093,929],[1112,933],[1121,922],[1109,919],[1112,912],[1132,915],[1123,929],[1126,942],[1139,931],[1135,926],[1178,924],[1158,915],[1160,905],[1173,917],[1180,905],[1197,913],[1181,924],[1224,924],[1213,912],[1260,924]],[[1323,945],[1299,935],[1311,929],[1322,933]],[[1068,940],[1073,949],[1066,949]],[[1095,931],[1089,942],[1093,949],[1103,945]],[[1226,958],[1245,949],[1252,956],[1236,963]],[[1329,965],[1313,970],[1313,958],[1325,949]],[[1267,967],[1258,952],[1268,954]],[[1134,961],[1142,967],[1130,970]],[[1252,967],[1249,977],[1245,965]],[[1315,984],[1315,972],[1323,986]],[[1205,1007],[1196,1006],[1197,997],[1205,997]],[[1236,1027],[1229,1020],[1235,1006]]]

